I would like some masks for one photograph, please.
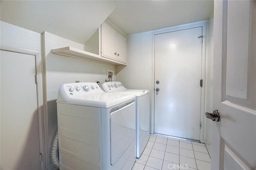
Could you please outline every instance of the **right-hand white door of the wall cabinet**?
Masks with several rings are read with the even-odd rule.
[[[116,60],[126,63],[126,37],[116,32]]]

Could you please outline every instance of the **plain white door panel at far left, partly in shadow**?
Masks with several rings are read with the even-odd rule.
[[[1,170],[40,170],[35,56],[0,50]]]

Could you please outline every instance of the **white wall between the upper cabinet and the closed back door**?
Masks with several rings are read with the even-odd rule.
[[[116,80],[126,88],[151,90],[152,86],[152,33],[128,36],[128,66],[116,66]]]

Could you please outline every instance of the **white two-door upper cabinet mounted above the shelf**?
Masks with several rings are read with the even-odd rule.
[[[106,22],[102,23],[101,37],[101,56],[126,64],[126,37]]]

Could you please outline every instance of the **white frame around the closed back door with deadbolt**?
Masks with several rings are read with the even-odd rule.
[[[151,91],[151,125],[150,125],[150,133],[154,133],[154,85],[155,85],[155,51],[154,51],[154,35],[160,34],[160,33],[168,33],[168,32],[173,32],[173,31],[180,31],[184,29],[191,29],[195,27],[202,27],[202,35],[203,37],[203,43],[202,43],[202,80],[203,80],[203,87],[201,89],[201,111],[200,111],[200,122],[201,122],[201,129],[200,129],[200,142],[204,143],[205,142],[205,133],[206,133],[206,118],[204,117],[204,112],[206,112],[206,92],[207,92],[207,41],[208,41],[208,20],[204,21],[198,21],[198,22],[193,22],[193,23],[187,23],[183,25],[178,25],[174,27],[168,27],[164,29],[158,29],[156,31],[152,32],[152,89]],[[199,80],[198,80],[199,83]],[[199,122],[198,122],[199,123]],[[199,124],[198,124],[199,126]]]

